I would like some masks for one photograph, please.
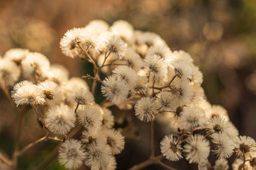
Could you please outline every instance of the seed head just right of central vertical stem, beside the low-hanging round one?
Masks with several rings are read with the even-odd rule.
[[[179,105],[177,97],[172,92],[162,91],[156,97],[157,101],[161,104],[160,111],[173,111]]]

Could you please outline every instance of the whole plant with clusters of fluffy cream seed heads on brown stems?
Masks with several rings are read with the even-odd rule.
[[[122,129],[113,128],[115,118],[108,110],[115,105],[120,110],[134,108],[141,122],[151,124],[151,155],[131,169],[150,164],[173,169],[161,162],[164,158],[184,158],[198,164],[198,169],[228,169],[227,159],[233,153],[237,157],[233,169],[255,169],[254,139],[239,136],[227,111],[207,101],[203,75],[188,53],[170,50],[157,34],[134,30],[124,20],[111,26],[93,20],[86,27],[70,29],[60,48],[68,57],[92,63],[93,76],[83,76],[93,81],[92,89],[81,78],[69,78],[65,67],[50,64],[41,53],[11,49],[0,60],[1,89],[17,106],[26,105],[22,111],[32,108],[45,129],[44,137],[21,150],[18,136],[13,158],[0,155],[6,165],[17,168],[17,159],[29,148],[54,140],[61,143],[59,162],[68,169],[83,164],[90,169],[115,169],[115,155],[125,144]],[[104,80],[100,72],[106,74]],[[94,101],[97,83],[106,97],[100,105]],[[22,116],[20,112],[20,120]],[[175,132],[163,137],[157,156],[154,121],[163,119]],[[210,153],[216,156],[214,165],[208,161]]]

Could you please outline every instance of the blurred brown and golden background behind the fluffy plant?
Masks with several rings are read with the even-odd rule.
[[[90,65],[65,57],[59,43],[67,29],[84,27],[93,19],[109,24],[127,20],[135,29],[159,34],[171,50],[190,53],[204,73],[202,86],[209,101],[228,110],[230,120],[242,135],[256,139],[255,0],[0,0],[0,55],[9,48],[28,48],[44,53],[52,63],[63,64],[71,76],[82,76]],[[126,134],[125,150],[116,157],[118,169],[128,169],[150,155],[150,124],[139,122],[131,111],[115,107],[111,110],[116,117],[130,115],[136,127],[130,136]],[[0,115],[0,150],[10,156],[17,115],[3,92]],[[42,137],[35,120],[35,114],[28,113],[20,145]],[[124,122],[116,124],[125,126]],[[170,133],[170,127],[157,124],[156,131],[156,149],[160,153],[159,142]],[[33,169],[56,145],[47,142],[29,150],[19,160],[20,169]],[[177,169],[196,169],[185,161],[164,162]],[[55,159],[47,169],[64,167]]]

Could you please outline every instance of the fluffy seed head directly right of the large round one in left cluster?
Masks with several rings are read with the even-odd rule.
[[[79,124],[83,125],[88,134],[95,135],[102,127],[102,116],[95,108],[86,108],[77,111]]]

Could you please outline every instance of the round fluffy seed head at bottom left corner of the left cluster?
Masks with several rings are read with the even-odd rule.
[[[66,168],[77,169],[81,167],[84,158],[85,152],[80,141],[70,139],[60,146],[58,159]]]

